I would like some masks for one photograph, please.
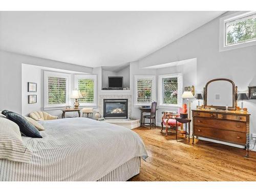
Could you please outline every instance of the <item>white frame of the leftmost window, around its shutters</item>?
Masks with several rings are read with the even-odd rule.
[[[65,78],[66,79],[66,103],[49,104],[49,77]],[[44,110],[59,109],[63,106],[70,105],[70,90],[71,90],[71,74],[60,73],[54,71],[44,71]]]

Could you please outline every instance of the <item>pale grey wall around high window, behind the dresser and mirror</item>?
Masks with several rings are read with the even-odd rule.
[[[197,58],[196,90],[202,90],[209,80],[215,78],[231,79],[238,86],[239,91],[246,91],[248,86],[256,86],[256,46],[220,52],[219,19],[212,20],[140,59],[140,67]],[[245,101],[244,106],[251,113],[250,133],[256,133],[256,100]]]

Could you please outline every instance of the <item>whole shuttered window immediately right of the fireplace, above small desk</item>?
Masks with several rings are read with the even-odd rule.
[[[156,99],[156,77],[135,75],[135,105],[151,105]]]

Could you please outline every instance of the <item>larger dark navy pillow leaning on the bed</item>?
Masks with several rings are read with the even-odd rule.
[[[14,112],[8,112],[6,118],[19,126],[19,131],[26,137],[42,138],[39,131],[25,117]]]

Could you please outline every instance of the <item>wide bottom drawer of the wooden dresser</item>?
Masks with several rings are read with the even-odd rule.
[[[231,143],[246,143],[246,134],[241,132],[227,131],[227,130],[219,130],[210,127],[203,126],[195,126],[194,127],[194,135],[207,137],[217,140],[223,140]]]

